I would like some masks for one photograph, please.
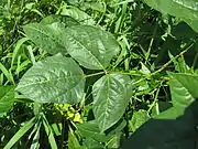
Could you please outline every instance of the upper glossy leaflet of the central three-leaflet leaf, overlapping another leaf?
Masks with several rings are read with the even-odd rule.
[[[112,34],[88,25],[67,28],[62,39],[68,53],[90,70],[105,70],[120,50]]]

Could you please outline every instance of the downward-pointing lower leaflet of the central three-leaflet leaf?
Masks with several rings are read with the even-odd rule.
[[[123,116],[132,93],[129,76],[108,74],[94,84],[94,115],[100,131],[105,131]]]

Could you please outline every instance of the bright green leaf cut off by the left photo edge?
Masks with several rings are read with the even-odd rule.
[[[8,113],[14,103],[14,86],[0,85],[0,117]]]

